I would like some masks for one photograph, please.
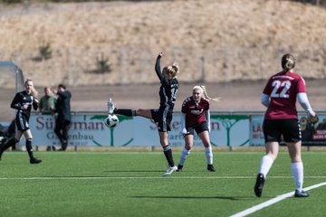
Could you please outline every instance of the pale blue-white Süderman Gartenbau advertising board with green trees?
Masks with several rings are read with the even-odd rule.
[[[69,146],[160,146],[157,126],[147,118],[119,116],[117,127],[106,127],[102,115],[72,116],[69,130]],[[34,146],[58,146],[60,142],[53,129],[53,116],[34,115],[30,118],[30,127],[34,136]],[[180,116],[174,115],[169,132],[171,146],[184,146],[180,134]],[[212,146],[248,146],[248,116],[211,115]],[[202,146],[195,138],[195,146]]]

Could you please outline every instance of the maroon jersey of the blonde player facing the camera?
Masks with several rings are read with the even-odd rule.
[[[206,121],[205,112],[209,109],[209,101],[200,99],[196,103],[193,97],[188,97],[182,103],[181,112],[186,114],[186,126],[197,126],[197,124]]]

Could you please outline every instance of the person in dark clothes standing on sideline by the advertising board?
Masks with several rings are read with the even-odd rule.
[[[68,130],[72,124],[70,103],[72,94],[69,90],[66,90],[66,86],[63,84],[59,84],[58,90],[54,93],[58,95],[54,110],[58,113],[57,118],[55,119],[54,133],[59,138],[62,145],[59,151],[65,151],[68,146]]]

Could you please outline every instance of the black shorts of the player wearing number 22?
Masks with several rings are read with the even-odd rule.
[[[267,142],[298,142],[302,140],[298,119],[265,119],[264,140]]]

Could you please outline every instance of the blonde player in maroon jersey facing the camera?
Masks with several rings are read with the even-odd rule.
[[[205,95],[205,97],[204,97]],[[181,171],[191,148],[194,146],[195,131],[205,146],[207,170],[215,172],[213,165],[212,146],[210,145],[210,112],[209,100],[204,86],[195,86],[192,97],[188,97],[182,103],[181,109],[181,133],[185,138],[185,147],[181,152],[180,161],[177,165],[177,172]],[[218,99],[212,99],[217,101]]]

